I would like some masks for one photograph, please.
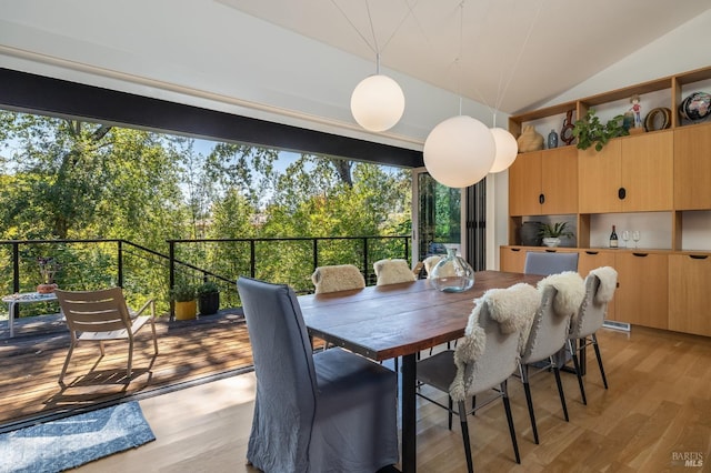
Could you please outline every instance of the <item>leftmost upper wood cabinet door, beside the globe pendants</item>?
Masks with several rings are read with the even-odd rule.
[[[541,151],[521,153],[509,168],[509,214],[540,215]]]

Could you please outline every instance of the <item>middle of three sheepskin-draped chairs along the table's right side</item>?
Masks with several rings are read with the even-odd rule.
[[[549,275],[539,282],[538,289],[541,293],[541,305],[533,316],[528,335],[523,338],[524,343],[521,350],[521,359],[519,360],[519,374],[523,383],[525,402],[531,417],[533,441],[537,444],[539,443],[538,426],[535,424],[529,371],[534,369],[539,370],[537,372],[540,373],[549,369],[553,370],[563,416],[568,421],[568,407],[565,405],[563,385],[560,381],[560,358],[558,353],[565,348],[570,318],[580,306],[584,294],[582,278],[573,271]]]

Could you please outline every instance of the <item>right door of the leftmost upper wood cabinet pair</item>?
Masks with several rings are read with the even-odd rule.
[[[541,213],[578,213],[578,149],[555,148],[541,157]]]

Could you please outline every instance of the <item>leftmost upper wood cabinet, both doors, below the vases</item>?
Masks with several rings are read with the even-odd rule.
[[[520,154],[509,168],[509,214],[578,212],[578,149],[554,148]]]

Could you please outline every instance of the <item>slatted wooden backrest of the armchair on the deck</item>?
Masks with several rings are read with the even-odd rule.
[[[98,291],[54,290],[67,325],[72,332],[111,332],[127,330],[131,336],[131,318],[121,288]]]

